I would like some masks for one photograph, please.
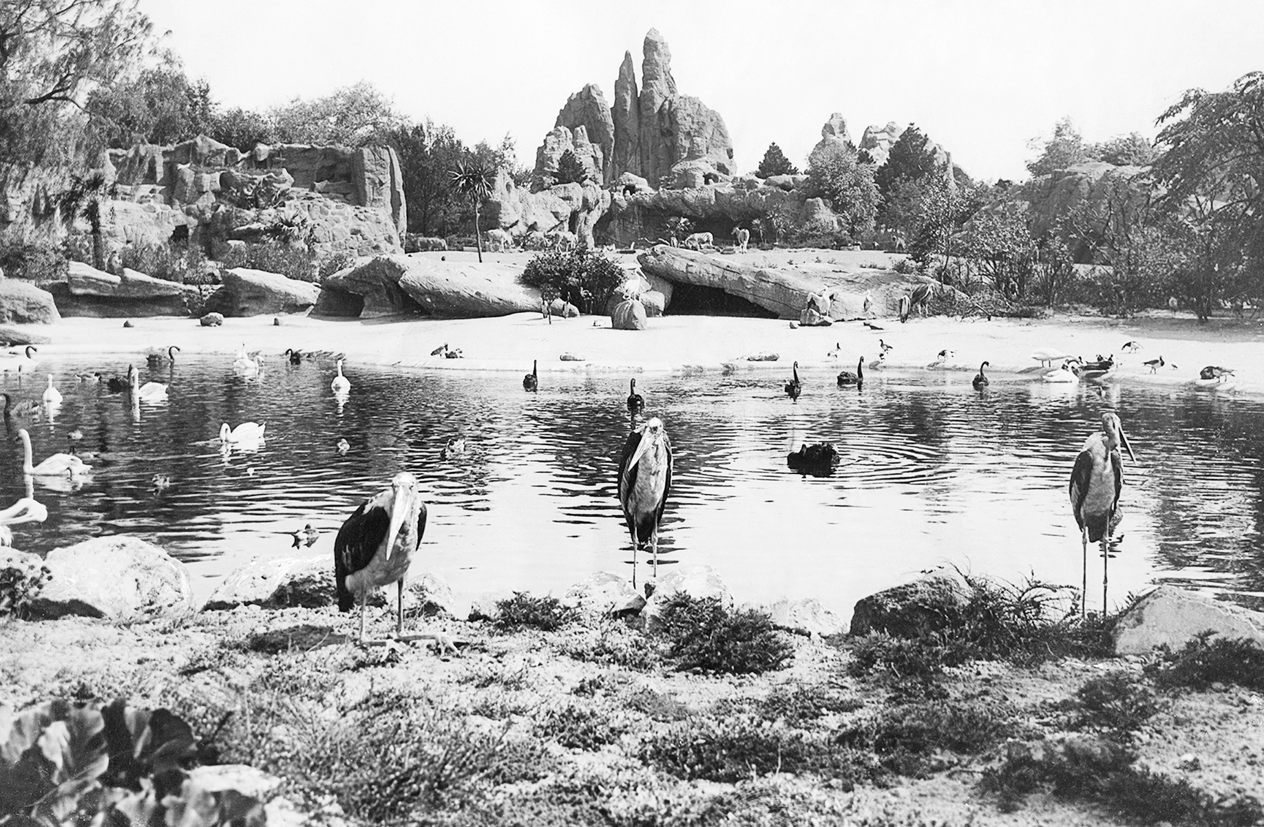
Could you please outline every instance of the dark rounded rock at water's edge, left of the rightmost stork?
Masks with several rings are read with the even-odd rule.
[[[895,638],[920,638],[952,624],[969,600],[956,577],[937,572],[856,601],[851,634],[885,631]]]

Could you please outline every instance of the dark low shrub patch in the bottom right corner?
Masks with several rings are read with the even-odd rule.
[[[1028,793],[1049,789],[1071,800],[1093,802],[1115,818],[1246,827],[1264,818],[1258,800],[1217,802],[1186,780],[1134,766],[1136,754],[1106,739],[1081,737],[1055,744],[1011,742],[1004,764],[985,771],[980,787],[1012,811]]]

